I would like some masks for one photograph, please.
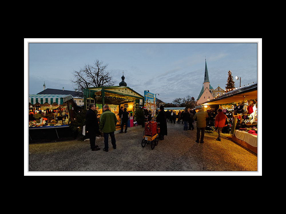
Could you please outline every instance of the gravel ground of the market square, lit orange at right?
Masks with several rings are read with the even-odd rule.
[[[51,171],[113,172],[115,175],[147,171],[194,175],[202,171],[228,172],[227,175],[229,171],[258,173],[256,154],[225,137],[221,142],[216,141],[216,132],[205,133],[204,143],[200,144],[195,142],[196,126],[193,131],[184,131],[182,124],[168,123],[168,136],[151,150],[150,144],[141,146],[143,131],[144,128],[138,128],[115,134],[117,148],[112,148],[109,138],[109,152],[103,151],[103,137],[96,140],[99,151],[91,151],[89,141],[80,140],[29,144],[28,175]]]

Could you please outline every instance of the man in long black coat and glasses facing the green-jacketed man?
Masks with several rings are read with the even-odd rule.
[[[90,138],[90,148],[92,151],[98,151],[98,145],[95,145],[96,134],[99,132],[99,125],[97,115],[95,113],[96,106],[94,103],[91,103],[88,106],[88,110],[86,112],[86,131],[88,131],[88,136]]]

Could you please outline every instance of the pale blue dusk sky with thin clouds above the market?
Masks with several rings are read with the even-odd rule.
[[[143,96],[149,90],[163,102],[187,95],[196,100],[205,60],[210,85],[225,89],[229,70],[235,86],[235,76],[241,85],[261,78],[260,52],[262,39],[24,39],[24,85],[27,94],[41,92],[44,82],[74,90],[72,72],[98,59],[108,64],[116,86],[124,72],[127,86]]]

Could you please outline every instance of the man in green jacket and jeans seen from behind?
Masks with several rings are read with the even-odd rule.
[[[114,131],[117,119],[116,115],[109,110],[108,105],[104,105],[102,108],[103,113],[100,115],[99,128],[103,132],[104,136],[104,149],[103,151],[108,152],[108,136],[111,137],[111,144],[114,149],[116,149],[116,140],[114,136]]]

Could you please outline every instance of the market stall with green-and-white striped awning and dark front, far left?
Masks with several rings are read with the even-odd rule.
[[[72,137],[69,123],[75,108],[72,95],[29,94],[29,142]]]

